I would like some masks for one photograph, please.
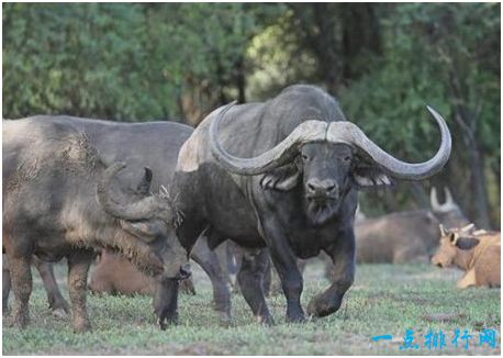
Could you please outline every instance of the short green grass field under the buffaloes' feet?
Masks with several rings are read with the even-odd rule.
[[[57,267],[67,297],[65,267]],[[3,318],[4,355],[500,355],[500,289],[457,290],[460,271],[431,266],[364,265],[340,310],[304,324],[287,324],[282,294],[268,299],[276,325],[258,325],[241,294],[233,297],[233,322],[221,326],[211,304],[209,280],[193,268],[197,295],[180,297],[179,325],[163,332],[154,325],[152,300],[146,297],[93,297],[88,307],[93,331],[72,333],[69,322],[58,321],[47,309],[37,273],[31,298],[31,325],[8,327]],[[305,305],[327,281],[321,264],[308,266]],[[11,297],[12,300],[12,297]],[[445,334],[440,350],[424,346],[428,329]],[[451,343],[456,328],[472,336],[469,348]],[[496,347],[479,346],[483,328],[496,331]],[[400,349],[406,329],[413,329],[418,349]],[[392,335],[372,342],[372,336]]]

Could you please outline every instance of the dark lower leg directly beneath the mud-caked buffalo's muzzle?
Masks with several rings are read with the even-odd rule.
[[[160,329],[178,322],[178,280],[159,279],[154,295],[154,312]]]

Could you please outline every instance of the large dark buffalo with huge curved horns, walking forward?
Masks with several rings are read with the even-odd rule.
[[[281,279],[287,320],[302,321],[303,282],[297,258],[321,250],[334,261],[334,281],[312,299],[308,313],[338,310],[354,281],[357,191],[389,186],[392,178],[420,180],[439,171],[450,155],[440,130],[436,155],[421,164],[385,153],[337,101],[313,86],[292,86],[264,103],[215,110],[180,149],[175,176],[186,221],[177,234],[187,248],[209,226],[210,245],[230,237],[248,248],[238,272],[243,294],[260,322],[271,323],[261,280],[267,254]]]

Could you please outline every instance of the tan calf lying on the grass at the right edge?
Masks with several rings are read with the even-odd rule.
[[[432,264],[465,270],[458,288],[501,286],[501,233],[473,231],[473,225],[448,231],[440,226],[440,246]]]

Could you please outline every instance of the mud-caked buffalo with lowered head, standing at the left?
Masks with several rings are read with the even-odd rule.
[[[32,291],[30,261],[68,260],[68,287],[76,332],[90,327],[86,286],[93,248],[120,250],[159,280],[166,299],[156,310],[158,323],[176,320],[178,280],[188,275],[188,253],[176,237],[181,222],[174,199],[161,188],[149,191],[145,169],[137,190],[116,178],[125,164],[107,167],[77,126],[36,118],[4,121],[3,248],[15,301],[13,323],[29,322]]]

